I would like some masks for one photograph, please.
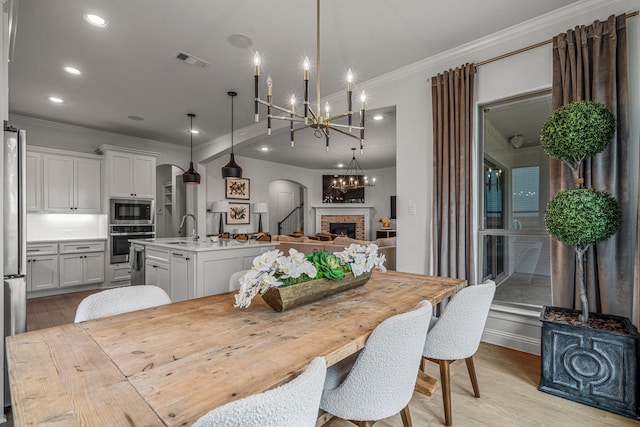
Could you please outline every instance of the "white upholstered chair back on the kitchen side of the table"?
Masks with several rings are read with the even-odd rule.
[[[78,305],[75,322],[170,304],[171,298],[158,286],[140,285],[107,289],[91,294]]]

